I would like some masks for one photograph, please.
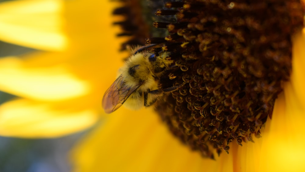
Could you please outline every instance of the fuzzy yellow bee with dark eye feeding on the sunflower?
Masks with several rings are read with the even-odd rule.
[[[168,52],[150,53],[144,46],[133,50],[119,70],[119,77],[106,90],[102,107],[106,113],[116,111],[122,104],[131,109],[149,107],[164,92],[177,90],[177,86],[160,89],[160,75],[173,63]]]

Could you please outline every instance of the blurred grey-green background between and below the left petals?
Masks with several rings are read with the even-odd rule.
[[[31,51],[34,49],[0,41],[0,57]],[[13,97],[0,91],[0,104]],[[56,139],[0,137],[0,172],[68,172],[69,150],[84,133]]]

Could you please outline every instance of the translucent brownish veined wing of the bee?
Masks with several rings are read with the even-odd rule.
[[[102,107],[106,113],[111,113],[120,108],[127,98],[140,84],[134,87],[126,86],[122,75],[120,75],[105,92]]]

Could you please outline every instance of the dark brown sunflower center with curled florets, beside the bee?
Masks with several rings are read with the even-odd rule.
[[[289,80],[291,36],[303,27],[304,4],[185,0],[164,6],[155,14],[169,20],[153,26],[169,34],[147,43],[162,43],[175,61],[160,79],[162,88],[180,87],[156,102],[156,112],[181,141],[212,159],[213,150],[228,152],[230,142],[260,137]]]

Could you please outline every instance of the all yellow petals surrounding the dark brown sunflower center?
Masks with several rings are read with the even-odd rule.
[[[266,118],[260,129],[262,138],[242,146],[230,143],[229,154],[212,160],[190,151],[150,109],[131,112],[122,107],[100,115],[103,91],[124,57],[114,53],[123,42],[112,37],[118,30],[107,25],[114,2],[31,0],[0,5],[0,34],[5,35],[1,38],[44,50],[0,59],[0,89],[21,97],[1,105],[1,135],[58,137],[92,126],[102,117],[99,127],[74,149],[75,171],[305,170],[304,29],[292,36],[290,80],[278,94],[272,120]],[[49,8],[39,10],[43,7]]]

